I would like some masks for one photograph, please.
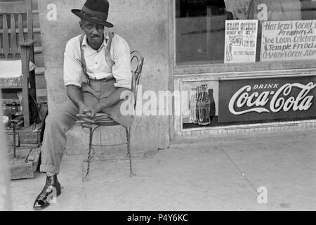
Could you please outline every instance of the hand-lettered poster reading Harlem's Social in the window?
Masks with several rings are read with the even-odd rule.
[[[316,20],[265,21],[261,61],[316,59]]]

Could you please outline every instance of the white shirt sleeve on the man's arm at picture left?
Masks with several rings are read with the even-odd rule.
[[[64,53],[64,84],[81,86],[81,63],[77,60],[74,43],[68,41]]]

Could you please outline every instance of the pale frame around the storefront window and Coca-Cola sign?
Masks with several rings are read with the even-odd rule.
[[[180,84],[188,80],[220,80],[227,78],[258,78],[297,75],[316,75],[316,60],[288,60],[256,63],[181,64],[176,62],[176,0],[169,0],[169,88],[180,91]],[[180,101],[173,100],[174,108],[181,107]],[[202,127],[183,129],[181,116],[172,115],[169,120],[171,139],[175,136],[216,135],[237,133],[239,129],[265,130],[267,127],[289,129],[289,127],[315,127],[316,120],[291,122],[268,122],[265,124],[241,124],[223,127]]]

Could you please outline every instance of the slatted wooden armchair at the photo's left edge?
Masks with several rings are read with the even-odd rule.
[[[9,22],[8,22],[9,21]],[[26,34],[26,35],[25,35]],[[29,95],[35,100],[32,0],[0,2],[0,89],[22,89],[25,127],[29,127]],[[4,95],[4,94],[3,94]]]

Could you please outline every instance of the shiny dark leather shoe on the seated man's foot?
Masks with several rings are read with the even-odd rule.
[[[54,198],[61,194],[61,186],[58,182],[57,175],[46,175],[46,184],[37,196],[33,205],[34,210],[43,210],[48,207],[54,200]]]

